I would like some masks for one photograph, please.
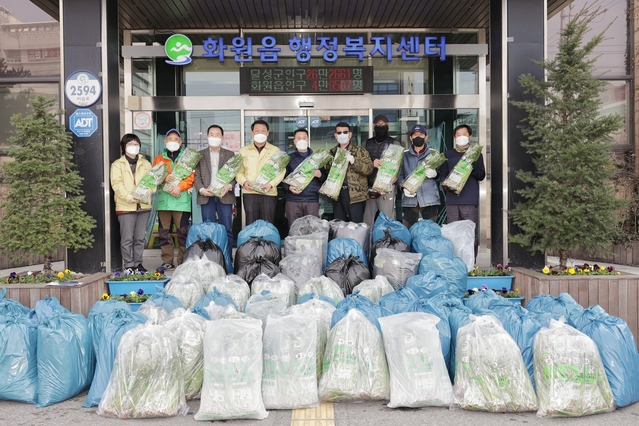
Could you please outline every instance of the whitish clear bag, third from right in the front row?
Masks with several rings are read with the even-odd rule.
[[[390,370],[390,408],[449,406],[453,386],[442,355],[438,317],[405,312],[379,319]]]

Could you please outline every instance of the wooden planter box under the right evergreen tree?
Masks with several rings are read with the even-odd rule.
[[[540,294],[568,293],[581,306],[599,305],[621,318],[637,340],[639,332],[639,275],[555,276],[512,268],[521,295],[529,301]]]

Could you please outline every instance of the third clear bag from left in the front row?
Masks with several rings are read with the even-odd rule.
[[[317,320],[301,314],[269,315],[264,329],[262,399],[274,410],[319,405]]]

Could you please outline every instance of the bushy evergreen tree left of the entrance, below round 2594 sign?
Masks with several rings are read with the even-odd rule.
[[[0,235],[4,251],[14,260],[33,253],[45,257],[51,271],[60,247],[75,251],[91,247],[95,220],[82,210],[82,177],[73,163],[71,136],[51,113],[57,100],[37,96],[29,101],[33,113],[15,114],[17,136],[9,142],[15,161],[3,167],[9,194],[0,205]]]

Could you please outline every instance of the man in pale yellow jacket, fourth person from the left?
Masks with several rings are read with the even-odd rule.
[[[268,123],[264,120],[255,120],[251,124],[253,143],[240,149],[243,161],[235,180],[242,185],[242,203],[246,225],[250,225],[258,219],[275,223],[277,185],[284,179],[286,169],[261,188],[264,194],[255,191],[251,186],[251,182],[257,179],[262,167],[280,152],[278,147],[266,141],[268,135]]]

